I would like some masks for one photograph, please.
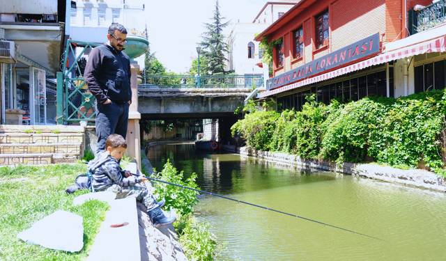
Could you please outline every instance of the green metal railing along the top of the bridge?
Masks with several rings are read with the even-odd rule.
[[[142,75],[138,88],[256,88],[262,86],[259,74],[229,75]]]

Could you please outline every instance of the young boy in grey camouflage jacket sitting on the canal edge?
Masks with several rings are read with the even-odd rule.
[[[133,176],[119,166],[118,161],[123,157],[126,148],[127,143],[123,136],[112,134],[105,142],[105,152],[99,152],[95,159],[89,162],[87,168],[93,173],[94,191],[112,191],[116,193],[116,198],[137,198],[147,207],[148,216],[153,219],[155,228],[174,223],[176,218],[164,216],[161,210],[164,200],[158,203],[148,189],[137,185],[147,178]]]

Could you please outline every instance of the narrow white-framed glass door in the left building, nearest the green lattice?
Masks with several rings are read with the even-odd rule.
[[[37,68],[31,69],[32,77],[32,100],[33,111],[31,111],[32,125],[46,125],[47,123],[47,92],[45,82],[45,71]]]

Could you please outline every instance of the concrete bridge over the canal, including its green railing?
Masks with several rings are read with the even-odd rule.
[[[262,83],[258,75],[147,75],[138,87],[143,120],[232,117]]]

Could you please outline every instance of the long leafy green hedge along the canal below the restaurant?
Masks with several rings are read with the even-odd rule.
[[[256,150],[305,159],[369,160],[398,168],[428,166],[446,177],[446,91],[399,97],[364,97],[329,106],[307,95],[302,111],[256,111],[231,127]]]

